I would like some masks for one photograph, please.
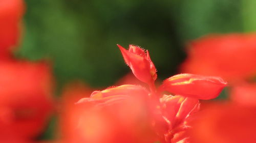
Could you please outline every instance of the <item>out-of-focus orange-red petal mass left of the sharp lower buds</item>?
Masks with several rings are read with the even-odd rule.
[[[78,142],[154,142],[150,124],[149,92],[139,85],[121,85],[95,91],[77,103],[80,110]],[[80,138],[80,141],[79,141]]]

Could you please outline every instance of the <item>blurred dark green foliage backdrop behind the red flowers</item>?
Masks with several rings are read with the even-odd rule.
[[[25,2],[23,43],[16,55],[52,61],[57,91],[77,79],[108,87],[130,72],[116,44],[148,49],[164,79],[178,72],[189,40],[256,30],[254,0]],[[56,118],[41,138],[51,138],[55,124]]]

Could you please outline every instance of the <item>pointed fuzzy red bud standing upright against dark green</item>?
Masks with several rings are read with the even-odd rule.
[[[117,45],[123,55],[125,63],[132,69],[133,74],[141,81],[150,83],[157,79],[156,68],[150,59],[150,54],[139,48],[130,45],[129,50]]]

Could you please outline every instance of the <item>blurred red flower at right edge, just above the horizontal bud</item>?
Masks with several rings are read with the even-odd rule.
[[[210,35],[191,41],[181,72],[237,81],[256,75],[256,34]]]

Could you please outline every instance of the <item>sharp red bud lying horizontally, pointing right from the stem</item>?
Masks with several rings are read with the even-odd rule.
[[[216,98],[226,85],[227,82],[220,77],[178,74],[167,78],[160,91],[207,100]]]

